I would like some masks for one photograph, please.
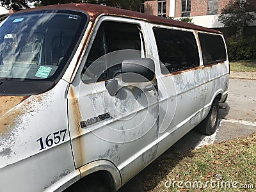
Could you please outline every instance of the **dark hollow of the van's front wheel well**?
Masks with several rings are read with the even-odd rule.
[[[108,191],[115,191],[115,184],[111,173],[107,171],[98,171],[86,175],[85,177],[77,180],[74,184],[65,189],[65,192],[83,191],[83,185],[90,184],[90,182],[97,180],[108,188]]]

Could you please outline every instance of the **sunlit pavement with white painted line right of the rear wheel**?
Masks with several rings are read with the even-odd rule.
[[[220,106],[225,109],[219,110],[220,120],[216,133],[212,136],[201,136],[198,143],[191,147],[202,147],[256,133],[255,80],[230,79],[227,102]],[[194,135],[193,131],[188,134]],[[191,138],[191,140],[196,140],[196,138]]]

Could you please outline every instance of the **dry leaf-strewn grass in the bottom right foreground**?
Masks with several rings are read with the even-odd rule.
[[[176,151],[150,168],[145,191],[256,191],[256,134]]]

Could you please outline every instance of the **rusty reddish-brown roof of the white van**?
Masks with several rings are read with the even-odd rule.
[[[154,24],[166,24],[168,26],[175,26],[178,28],[195,29],[198,31],[207,31],[210,33],[221,33],[220,31],[216,31],[214,29],[196,26],[194,24],[189,24],[186,22],[180,22],[173,19],[166,19],[163,17],[157,17],[154,15],[148,15],[145,13],[132,12],[132,11],[123,10],[120,8],[102,6],[99,4],[86,4],[86,3],[56,4],[56,5],[41,6],[37,8],[26,9],[20,12],[31,12],[36,10],[77,10],[77,11],[87,12],[90,15],[90,20],[92,22],[94,22],[95,19],[99,17],[99,15],[115,15],[120,17],[129,17],[129,18],[136,18],[140,20],[146,20],[147,22],[151,22]],[[20,13],[20,12],[16,12],[16,13]]]

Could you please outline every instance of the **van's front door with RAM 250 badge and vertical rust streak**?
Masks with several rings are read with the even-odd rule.
[[[111,19],[112,18],[112,19]],[[124,83],[124,60],[145,58],[144,22],[101,18],[68,90],[68,121],[76,168],[97,160],[111,161],[122,182],[156,156],[157,81]],[[118,82],[111,96],[109,80]]]

